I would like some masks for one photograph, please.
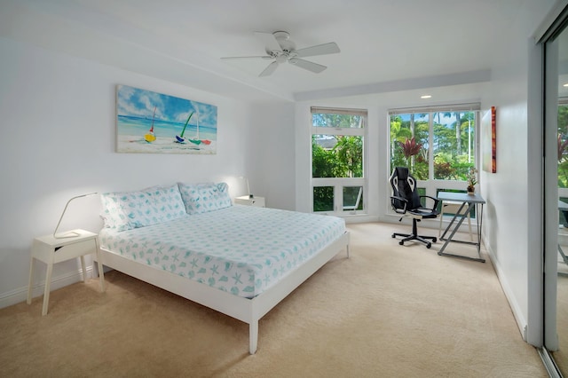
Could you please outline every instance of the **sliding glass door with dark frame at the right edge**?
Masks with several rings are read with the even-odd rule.
[[[568,376],[568,29],[565,22],[556,22],[556,30],[549,30],[541,42],[545,57],[544,351],[550,358],[549,371],[553,369]]]

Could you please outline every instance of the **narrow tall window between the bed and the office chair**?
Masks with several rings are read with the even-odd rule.
[[[312,107],[312,210],[345,215],[365,209],[367,111]]]

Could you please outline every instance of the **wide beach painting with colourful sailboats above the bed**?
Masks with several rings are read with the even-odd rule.
[[[217,106],[116,86],[116,151],[217,154]]]

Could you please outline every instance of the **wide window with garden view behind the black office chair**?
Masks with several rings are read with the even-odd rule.
[[[408,167],[428,195],[465,190],[479,166],[478,116],[479,104],[390,110],[390,171]]]

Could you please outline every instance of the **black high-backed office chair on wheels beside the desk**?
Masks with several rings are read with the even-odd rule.
[[[396,167],[392,170],[390,186],[392,187],[390,205],[397,214],[402,215],[399,221],[402,220],[403,217],[412,217],[412,233],[395,232],[392,234],[392,237],[404,237],[405,239],[398,242],[401,246],[405,244],[405,241],[419,240],[426,244],[426,248],[430,248],[432,244],[428,240],[432,240],[432,242],[435,243],[437,240],[436,237],[418,235],[418,227],[416,224],[420,222],[421,219],[438,217],[438,198],[430,197],[429,195],[419,195],[416,189],[416,180],[408,173],[406,167]],[[422,207],[420,202],[421,198],[426,198],[429,202],[433,201],[434,205],[431,208]]]

